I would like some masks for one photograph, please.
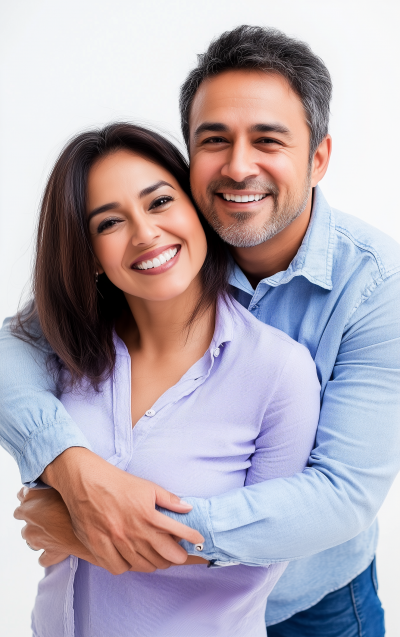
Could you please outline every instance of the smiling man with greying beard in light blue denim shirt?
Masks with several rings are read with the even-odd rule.
[[[121,555],[134,569],[140,552],[168,559],[152,526],[154,501],[202,534],[197,554],[214,568],[291,560],[268,601],[270,637],[384,634],[375,518],[400,465],[400,249],[330,208],[317,186],[331,152],[330,97],[329,73],[307,45],[246,26],[199,56],[181,92],[192,191],[232,255],[232,292],[306,345],[317,366],[321,416],[302,474],[185,498],[188,513],[157,485],[138,483],[135,492],[133,476],[128,483],[79,448],[87,441],[44,391],[28,346],[2,332],[2,437],[23,480],[47,467],[44,479],[61,493],[77,535],[115,572]],[[35,497],[19,513],[33,529]],[[43,503],[39,511],[43,519]],[[52,538],[68,552],[62,533]]]

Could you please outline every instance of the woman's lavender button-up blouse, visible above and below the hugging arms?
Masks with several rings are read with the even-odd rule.
[[[314,362],[235,301],[219,302],[205,355],[133,429],[131,360],[118,337],[116,350],[115,373],[100,393],[62,396],[93,451],[111,464],[202,498],[305,467],[320,404]],[[39,583],[33,635],[265,637],[267,597],[285,567],[192,565],[115,576],[70,556]]]

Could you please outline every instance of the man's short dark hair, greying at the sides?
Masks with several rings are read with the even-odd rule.
[[[282,75],[300,97],[310,128],[310,158],[328,133],[332,81],[324,62],[305,42],[269,27],[242,25],[213,40],[181,87],[182,133],[189,148],[189,116],[194,96],[207,78],[235,69]]]

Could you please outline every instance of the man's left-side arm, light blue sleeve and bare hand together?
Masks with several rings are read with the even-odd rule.
[[[43,480],[62,496],[78,539],[110,572],[181,564],[187,554],[172,536],[192,543],[200,533],[162,515],[155,505],[191,509],[161,487],[96,456],[55,397],[46,350],[0,331],[0,442],[25,483]]]

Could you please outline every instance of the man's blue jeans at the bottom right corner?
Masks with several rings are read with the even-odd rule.
[[[375,559],[361,575],[318,604],[268,627],[268,637],[383,637]]]

